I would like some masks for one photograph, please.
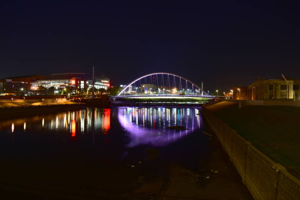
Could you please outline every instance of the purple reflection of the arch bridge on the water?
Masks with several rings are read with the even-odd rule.
[[[130,134],[128,147],[151,143],[166,146],[200,128],[198,108],[135,108],[119,107],[120,124]],[[173,130],[167,127],[182,125],[187,130]]]

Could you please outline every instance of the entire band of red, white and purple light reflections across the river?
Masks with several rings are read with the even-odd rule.
[[[24,144],[28,140],[32,143],[45,142],[45,133],[50,133],[55,141],[65,141],[67,138],[70,144],[76,140],[86,146],[101,146],[110,141],[125,147],[147,144],[166,146],[200,129],[199,113],[198,108],[115,107],[2,120],[0,142],[4,144],[5,139],[10,140],[11,136],[14,139],[23,138],[19,142]],[[173,125],[184,126],[186,130],[167,128]],[[93,141],[91,143],[91,140],[84,138],[92,138]]]

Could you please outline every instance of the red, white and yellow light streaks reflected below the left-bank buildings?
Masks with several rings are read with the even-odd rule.
[[[110,129],[110,108],[87,108],[78,111],[66,111],[58,114],[40,115],[20,119],[0,121],[0,132],[15,132],[21,130],[31,132],[35,130],[68,131],[71,137],[84,134],[92,129],[104,134]],[[93,127],[92,127],[93,125]]]

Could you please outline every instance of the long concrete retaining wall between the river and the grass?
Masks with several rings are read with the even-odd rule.
[[[300,200],[300,180],[257,150],[215,114],[203,116],[220,140],[255,200]]]

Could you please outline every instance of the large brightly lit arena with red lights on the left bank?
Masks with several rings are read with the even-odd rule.
[[[95,89],[109,88],[109,78],[104,75],[95,75]],[[39,90],[40,86],[46,89],[55,88],[57,94],[87,94],[93,87],[93,75],[84,73],[63,73],[46,76],[43,80],[31,82],[31,91]]]

